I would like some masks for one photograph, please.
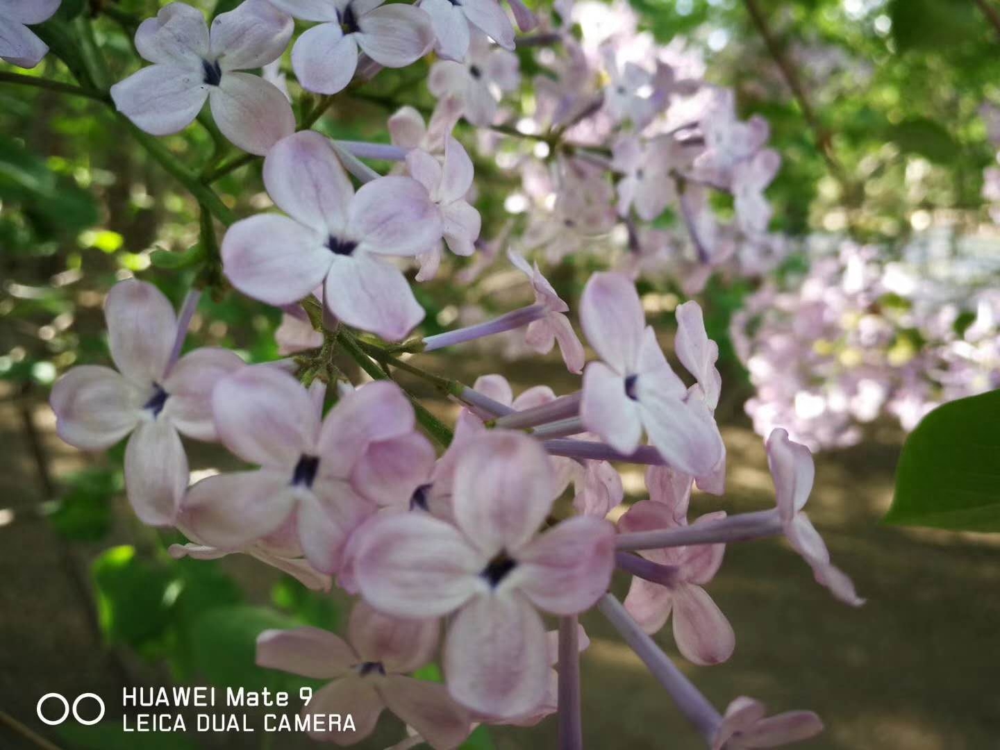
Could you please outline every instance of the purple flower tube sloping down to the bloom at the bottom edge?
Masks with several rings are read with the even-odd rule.
[[[660,650],[656,642],[642,632],[642,628],[625,611],[621,602],[611,594],[605,594],[597,603],[597,608],[631,646],[636,656],[642,659],[656,681],[670,693],[681,713],[711,743],[722,724],[722,717],[715,707]]]

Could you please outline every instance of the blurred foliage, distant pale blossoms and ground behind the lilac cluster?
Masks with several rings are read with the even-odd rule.
[[[157,5],[93,0],[84,9],[116,80],[136,65],[128,19]],[[811,517],[868,599],[858,610],[839,605],[783,543],[730,545],[710,590],[734,625],[736,653],[722,666],[682,667],[719,707],[746,694],[775,711],[817,711],[827,731],[804,747],[997,747],[1000,537],[879,519],[906,432],[934,404],[1000,385],[1000,3],[633,0],[631,12],[678,65],[731,87],[741,117],[766,118],[783,159],[767,191],[777,262],[756,276],[720,269],[696,295],[720,345],[717,418],[729,458],[725,497],[699,495],[692,510],[769,507],[761,434],[788,427],[817,452]],[[520,58],[528,81],[534,59]],[[71,80],[51,58],[32,74]],[[426,76],[426,62],[383,71],[365,98],[338,98],[318,128],[387,141],[396,106],[433,106]],[[191,164],[213,153],[202,128],[164,143]],[[519,213],[510,199],[520,178],[501,155],[476,159],[486,239]],[[215,186],[240,215],[268,205],[259,164]],[[717,208],[731,211],[725,201]],[[55,436],[52,383],[70,366],[107,362],[107,289],[138,275],[179,303],[194,276],[184,258],[198,226],[197,204],[102,104],[0,78],[0,748],[313,744],[261,732],[139,742],[114,726],[56,729],[35,715],[47,692],[102,695],[111,719],[123,687],[291,686],[253,666],[257,633],[346,622],[337,594],[310,592],[252,559],[171,559],[166,547],[179,535],[143,527],[124,498],[123,448],[87,455]],[[627,239],[546,267],[571,309],[593,270],[627,256]],[[530,303],[505,264],[473,274],[458,260],[415,286],[425,334]],[[689,296],[675,270],[666,258],[639,281],[668,354],[672,311]],[[206,295],[189,345],[276,359],[280,322],[280,311],[239,294]],[[539,383],[578,388],[557,355],[522,356],[509,344],[422,364],[470,384],[503,373],[515,393]],[[457,406],[424,393],[438,416],[454,419]],[[195,476],[235,465],[217,446],[192,445],[189,456]],[[642,471],[621,470],[627,499],[641,498]],[[616,579],[616,590],[625,586]],[[589,746],[701,746],[607,624],[592,616],[584,624]],[[669,628],[658,640],[676,655]],[[552,747],[555,733],[550,718],[533,730],[477,731],[468,746]],[[360,747],[403,736],[385,717]]]

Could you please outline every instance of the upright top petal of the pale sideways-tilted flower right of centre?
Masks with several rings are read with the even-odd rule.
[[[591,276],[580,299],[580,323],[587,341],[615,372],[635,372],[646,323],[639,295],[627,276]]]

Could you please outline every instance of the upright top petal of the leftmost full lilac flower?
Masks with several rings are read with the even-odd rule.
[[[104,301],[104,319],[118,371],[138,383],[160,380],[177,336],[177,317],[163,292],[143,281],[120,281]]]

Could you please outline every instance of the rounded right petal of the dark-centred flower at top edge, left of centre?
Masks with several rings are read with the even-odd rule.
[[[387,68],[405,68],[434,45],[430,16],[411,5],[383,5],[358,18],[358,26],[358,46]]]

